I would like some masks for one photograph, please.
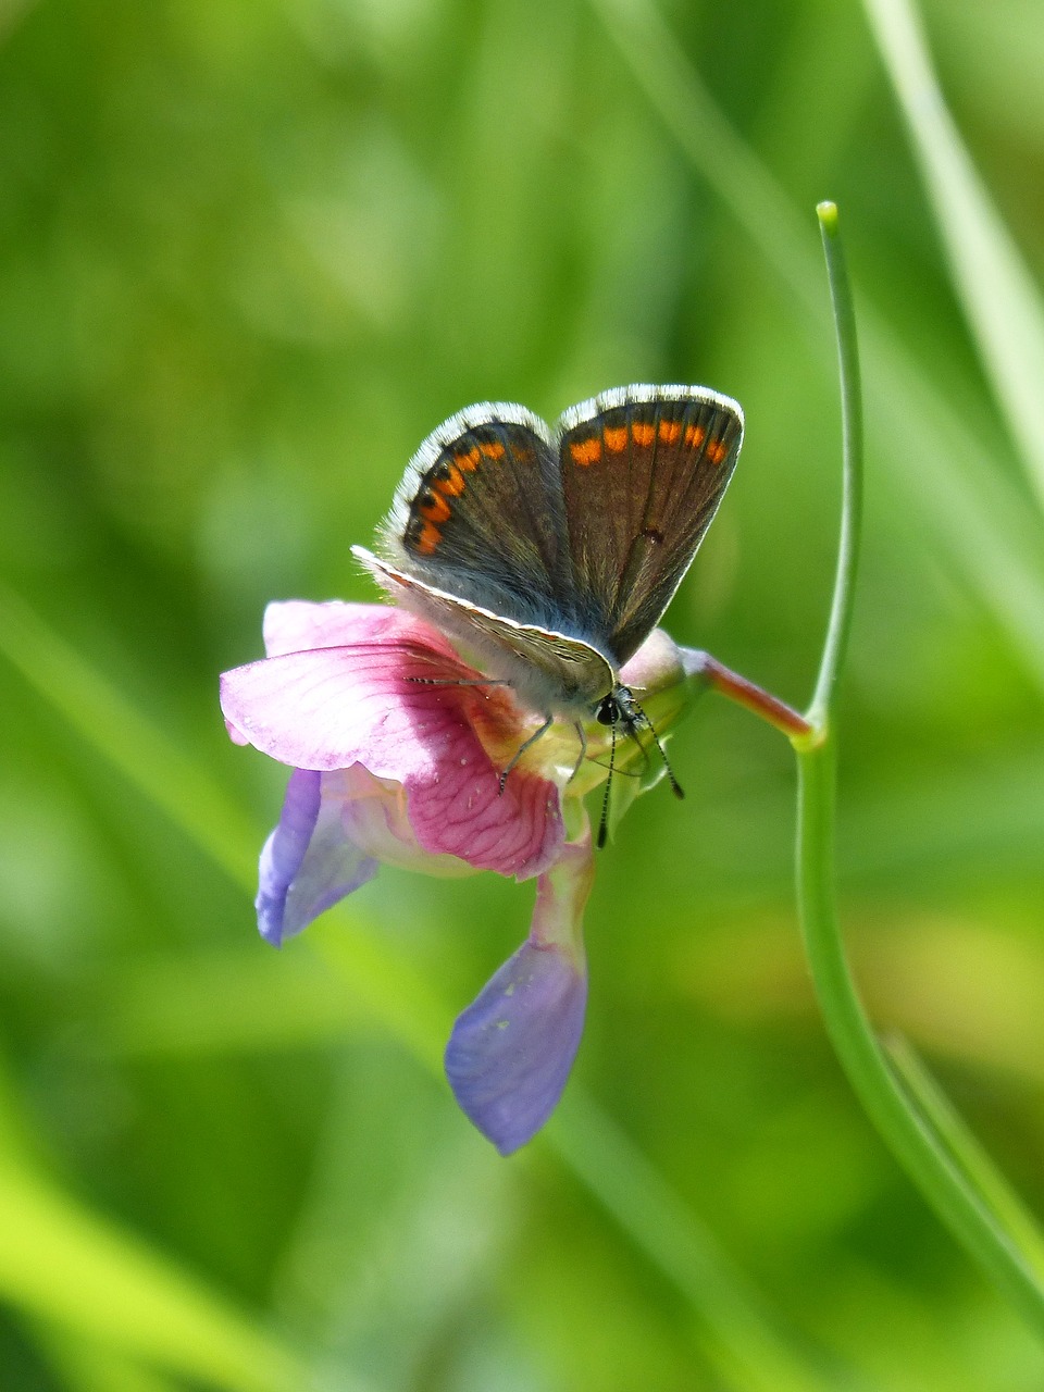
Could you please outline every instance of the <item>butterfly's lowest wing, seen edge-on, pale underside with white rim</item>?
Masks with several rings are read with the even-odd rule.
[[[523,706],[546,715],[586,718],[612,690],[612,668],[589,643],[470,604],[406,575],[365,547],[354,546],[352,553],[393,600],[458,639],[483,671],[511,685]]]

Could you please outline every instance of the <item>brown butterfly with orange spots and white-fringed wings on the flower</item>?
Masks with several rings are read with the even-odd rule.
[[[515,404],[468,406],[413,455],[380,554],[352,551],[391,599],[543,715],[501,786],[554,720],[576,727],[580,763],[583,721],[610,725],[614,748],[618,725],[649,727],[619,671],[681,585],[742,438],[728,397],[631,386],[554,427]],[[600,842],[604,823],[603,812]]]

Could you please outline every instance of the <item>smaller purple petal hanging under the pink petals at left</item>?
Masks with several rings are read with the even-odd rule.
[[[345,835],[341,799],[323,798],[323,774],[295,768],[278,825],[264,842],[258,928],[280,947],[377,873],[377,862]]]

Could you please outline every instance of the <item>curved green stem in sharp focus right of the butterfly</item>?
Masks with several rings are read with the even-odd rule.
[[[844,508],[830,628],[816,693],[812,732],[798,752],[798,901],[805,949],[830,1040],[867,1115],[951,1233],[1044,1336],[1044,1289],[1030,1261],[973,1186],[952,1153],[919,1114],[892,1072],[859,999],[834,899],[835,736],[832,714],[848,642],[856,576],[862,498],[859,365],[852,296],[832,203],[817,209],[838,333],[844,409]]]

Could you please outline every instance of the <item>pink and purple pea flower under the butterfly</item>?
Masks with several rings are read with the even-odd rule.
[[[381,862],[427,874],[536,878],[529,937],[458,1018],[445,1051],[454,1096],[509,1154],[554,1109],[587,998],[583,909],[594,874],[585,793],[614,739],[553,725],[505,768],[540,718],[469,667],[423,619],[384,604],[270,604],[267,657],[221,677],[231,738],[292,768],[260,856],[262,937],[278,947],[370,880]],[[663,736],[706,685],[704,656],[657,629],[621,678]],[[611,750],[612,820],[663,759]]]

